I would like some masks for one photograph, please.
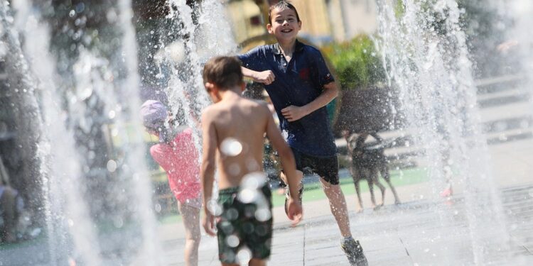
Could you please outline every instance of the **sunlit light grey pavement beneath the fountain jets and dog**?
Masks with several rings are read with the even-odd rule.
[[[499,247],[491,246],[494,250],[488,250],[483,256],[485,263],[533,265],[533,179],[530,175],[533,170],[529,164],[533,161],[532,149],[531,140],[490,147],[492,175],[502,195],[510,248],[498,251]],[[352,233],[361,241],[370,265],[475,265],[463,185],[456,184],[454,190],[455,196],[446,201],[432,196],[430,183],[398,187],[403,203],[395,206],[392,194],[387,194],[386,205],[377,211],[370,209],[370,194],[363,193],[366,209],[362,214],[355,211],[355,195],[346,196]],[[269,264],[348,265],[340,250],[340,235],[328,202],[310,201],[303,207],[305,219],[296,228],[289,226],[283,208],[274,208],[275,231]],[[442,217],[443,213],[449,215]],[[161,227],[161,235],[168,238],[163,246],[170,265],[183,265],[183,238],[172,236],[183,235],[180,227],[177,224]],[[486,237],[491,237],[490,230]],[[203,237],[200,265],[220,265],[215,238]]]

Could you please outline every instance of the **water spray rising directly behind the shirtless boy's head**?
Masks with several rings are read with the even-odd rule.
[[[183,113],[185,123],[195,131],[195,145],[200,150],[201,111],[211,102],[203,86],[203,64],[215,55],[234,53],[237,45],[229,23],[220,15],[225,13],[220,1],[201,1],[195,9],[184,0],[168,1],[168,6],[166,18],[178,29],[180,38],[173,43],[160,40],[155,57],[158,76],[168,80],[164,91],[171,111]]]

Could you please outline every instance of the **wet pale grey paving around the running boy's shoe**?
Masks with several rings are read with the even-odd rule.
[[[461,195],[452,201],[417,200],[363,214],[351,212],[352,233],[370,265],[532,265],[533,184],[502,189],[501,194],[510,247],[492,246],[481,261],[473,257]],[[313,201],[304,208],[321,202],[325,203]],[[332,216],[306,218],[296,228],[280,222],[275,228],[270,265],[348,265]],[[490,239],[491,232],[485,237]],[[183,243],[171,240],[165,246],[170,265],[182,265]],[[214,238],[203,238],[200,265],[220,265]]]

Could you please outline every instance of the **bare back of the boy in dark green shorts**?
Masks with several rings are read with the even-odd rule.
[[[264,135],[272,138],[275,134],[268,131],[278,131],[266,104],[240,96],[227,98],[203,113],[209,133],[204,138],[217,148],[220,189],[237,187],[244,175],[262,171]]]

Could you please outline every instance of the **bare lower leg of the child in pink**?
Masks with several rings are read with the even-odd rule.
[[[185,256],[186,266],[198,265],[198,246],[200,245],[200,209],[178,203],[185,226]]]

